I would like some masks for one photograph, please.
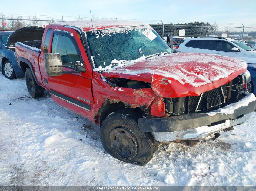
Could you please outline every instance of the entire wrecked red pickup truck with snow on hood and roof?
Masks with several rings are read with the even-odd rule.
[[[46,89],[56,103],[100,125],[103,148],[121,161],[144,165],[160,142],[215,139],[256,107],[244,90],[251,79],[245,61],[173,53],[148,24],[49,24],[36,43],[41,49],[15,44],[29,94]]]

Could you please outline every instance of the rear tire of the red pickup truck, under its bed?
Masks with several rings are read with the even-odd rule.
[[[44,95],[45,89],[36,83],[30,68],[27,68],[25,72],[25,79],[28,88],[28,93],[31,95],[31,97],[35,98]]]

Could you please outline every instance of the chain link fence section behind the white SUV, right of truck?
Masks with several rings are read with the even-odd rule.
[[[254,27],[231,27],[231,26],[190,26],[190,25],[168,25],[168,24],[151,24],[150,25],[161,37],[165,38],[168,34],[182,37],[202,37],[218,36],[252,40],[256,38],[256,28]],[[185,30],[184,34],[180,34]]]

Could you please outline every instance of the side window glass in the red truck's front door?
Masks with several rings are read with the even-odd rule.
[[[73,42],[70,40],[70,38],[63,35],[53,35],[52,53],[59,53],[63,63],[74,63],[80,60]]]

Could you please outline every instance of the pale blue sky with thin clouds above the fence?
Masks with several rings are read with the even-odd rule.
[[[152,1],[152,0],[12,0],[1,1],[0,13],[38,15],[39,18],[58,18],[71,20],[81,17],[93,17],[139,20],[147,23],[188,23],[217,22],[256,27],[256,0],[190,0],[190,1]],[[11,8],[10,8],[11,7]],[[10,12],[11,10],[11,12]],[[46,15],[46,16],[40,16]]]

